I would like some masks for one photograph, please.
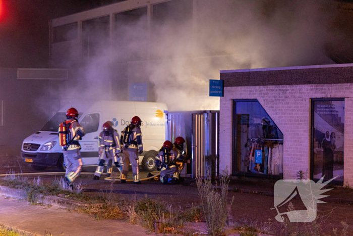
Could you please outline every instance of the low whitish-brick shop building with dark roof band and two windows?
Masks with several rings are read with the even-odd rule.
[[[221,71],[220,170],[353,185],[353,64]],[[261,151],[261,152],[260,152]]]

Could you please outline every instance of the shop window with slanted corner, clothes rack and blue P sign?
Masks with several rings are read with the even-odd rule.
[[[234,101],[232,172],[283,173],[283,134],[257,100]]]

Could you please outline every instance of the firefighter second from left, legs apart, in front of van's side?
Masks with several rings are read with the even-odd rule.
[[[119,134],[114,130],[114,125],[111,121],[107,121],[102,126],[102,132],[100,132],[98,137],[98,153],[99,153],[99,163],[94,173],[94,180],[98,180],[100,175],[103,173],[104,163],[107,161],[106,173],[110,177],[113,170],[112,163],[116,168],[122,172],[120,165],[120,143]]]

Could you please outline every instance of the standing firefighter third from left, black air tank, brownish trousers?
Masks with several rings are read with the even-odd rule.
[[[126,183],[126,176],[129,172],[129,164],[131,163],[134,183],[139,184],[139,154],[143,152],[141,119],[134,116],[131,119],[131,124],[125,127],[122,132],[120,143],[122,144],[122,161],[123,170],[120,175],[120,182]]]

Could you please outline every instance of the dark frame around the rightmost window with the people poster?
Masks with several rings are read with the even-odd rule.
[[[310,99],[310,179],[314,181],[318,181],[319,179],[314,179],[314,103],[320,101],[340,101],[344,102],[345,107],[345,99],[344,98],[313,98]],[[343,161],[344,161],[344,153],[343,153]],[[344,167],[343,167],[344,172]],[[343,176],[344,178],[344,176]],[[335,185],[343,185],[343,181],[332,180],[331,184]]]

